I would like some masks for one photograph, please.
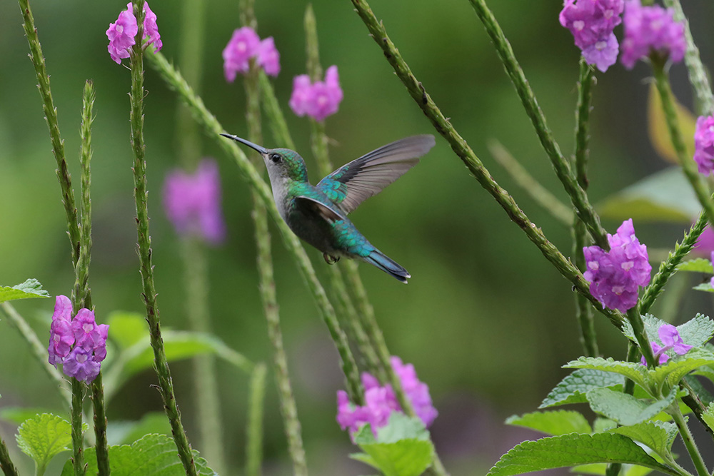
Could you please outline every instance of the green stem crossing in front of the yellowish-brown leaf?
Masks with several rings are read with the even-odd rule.
[[[687,147],[685,146],[684,138],[682,137],[682,132],[680,131],[677,120],[672,89],[670,88],[669,79],[665,72],[665,61],[663,59],[653,58],[652,69],[655,74],[657,91],[660,93],[667,128],[670,133],[672,145],[677,153],[677,158],[679,159],[679,163],[682,166],[687,180],[697,195],[699,203],[702,208],[704,208],[709,223],[714,226],[714,201],[710,198],[710,192],[707,189],[706,183],[699,175],[694,161],[688,156]]]

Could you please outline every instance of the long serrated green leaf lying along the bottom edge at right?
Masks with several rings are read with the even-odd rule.
[[[595,462],[620,462],[642,465],[668,475],[676,473],[660,464],[645,450],[623,435],[553,436],[522,442],[501,457],[488,476],[521,475],[524,472],[550,470],[555,467],[587,465]]]

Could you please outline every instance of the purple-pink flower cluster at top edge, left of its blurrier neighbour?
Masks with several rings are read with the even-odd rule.
[[[613,29],[620,24],[624,9],[623,0],[565,0],[560,11],[560,24],[575,39],[575,46],[583,51],[588,64],[600,71],[615,64],[618,58],[618,40]]]

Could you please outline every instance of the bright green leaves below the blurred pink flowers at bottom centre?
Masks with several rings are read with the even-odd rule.
[[[383,472],[385,476],[418,476],[434,457],[429,432],[417,417],[392,412],[389,423],[377,430],[375,438],[370,425],[355,435],[355,444],[363,453],[350,455]]]

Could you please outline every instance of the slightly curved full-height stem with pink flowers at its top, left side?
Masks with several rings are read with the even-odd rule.
[[[134,151],[134,201],[136,202],[136,231],[139,242],[139,260],[141,262],[141,282],[143,298],[146,304],[146,320],[149,323],[151,348],[154,350],[154,365],[159,378],[159,391],[164,401],[166,416],[171,424],[171,433],[178,449],[186,475],[196,476],[191,445],[183,431],[181,414],[174,395],[171,370],[166,360],[164,340],[161,338],[159,306],[156,304],[156,286],[154,285],[154,265],[151,263],[151,236],[149,236],[149,205],[146,190],[146,161],[144,161],[144,0],[134,0],[134,16],[139,24],[136,44],[131,51],[131,146]]]

